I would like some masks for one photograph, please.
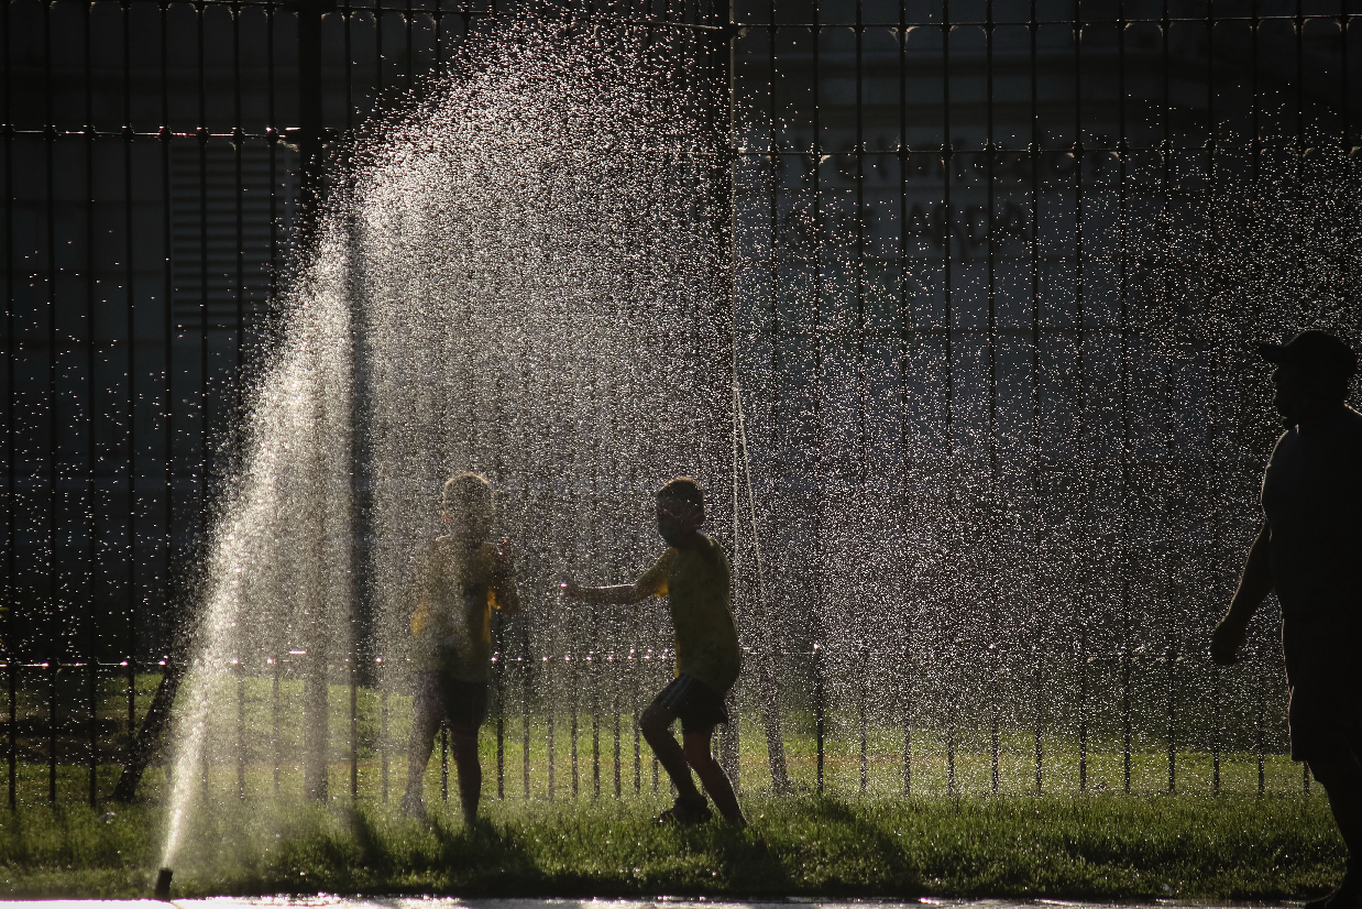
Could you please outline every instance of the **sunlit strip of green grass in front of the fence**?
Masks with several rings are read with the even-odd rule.
[[[750,829],[658,829],[651,799],[489,801],[466,831],[439,792],[428,822],[392,807],[227,800],[195,814],[177,897],[962,895],[1305,898],[1342,874],[1323,797],[749,797]],[[0,815],[0,894],[146,895],[155,805]]]

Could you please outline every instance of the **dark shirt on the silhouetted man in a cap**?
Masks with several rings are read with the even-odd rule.
[[[1263,476],[1293,685],[1362,692],[1362,414],[1278,439]]]

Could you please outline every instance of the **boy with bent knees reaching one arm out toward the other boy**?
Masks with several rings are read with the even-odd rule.
[[[729,559],[719,544],[699,531],[703,522],[700,487],[691,477],[677,477],[658,492],[658,533],[667,549],[643,576],[632,585],[610,587],[582,587],[567,581],[563,590],[572,600],[617,605],[667,598],[676,628],[677,676],[639,720],[648,745],[680,793],[658,820],[678,825],[710,820],[710,805],[691,778],[693,767],[719,814],[745,826],[733,784],[710,754],[714,728],[729,722],[723,699],[738,679],[741,658],[729,593]],[[684,745],[677,745],[671,736],[677,720]]]

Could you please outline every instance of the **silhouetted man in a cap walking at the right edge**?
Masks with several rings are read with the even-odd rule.
[[[1291,758],[1329,795],[1348,850],[1336,891],[1310,909],[1362,906],[1362,414],[1348,407],[1357,354],[1324,331],[1258,352],[1276,365],[1287,431],[1263,476],[1265,519],[1230,611],[1211,638],[1234,662],[1249,617],[1271,590],[1282,604],[1291,688]]]

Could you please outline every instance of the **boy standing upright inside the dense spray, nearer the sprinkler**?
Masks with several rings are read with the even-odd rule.
[[[407,745],[407,790],[402,811],[425,815],[421,797],[434,732],[449,729],[459,771],[463,819],[478,815],[482,767],[478,726],[488,717],[492,680],[492,611],[520,608],[509,540],[486,537],[494,518],[492,484],[475,473],[448,480],[441,491],[445,533],[425,545],[417,568],[417,608],[411,616],[415,691]]]

